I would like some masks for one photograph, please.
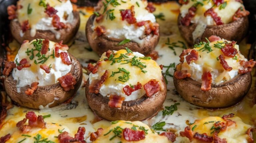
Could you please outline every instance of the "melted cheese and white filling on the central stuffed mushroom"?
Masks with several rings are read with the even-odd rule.
[[[126,50],[119,50],[115,51],[116,55],[114,58],[119,57],[121,54],[126,54]],[[144,65],[146,65],[145,68],[142,70],[147,71],[146,73],[143,73],[142,70],[137,67],[137,66],[132,66],[131,63],[128,64],[122,64],[122,63],[127,63],[126,61],[123,60],[131,60],[134,56],[137,56],[137,59],[140,60]],[[95,79],[100,79],[100,77],[104,74],[105,70],[108,70],[108,76],[106,81],[102,84],[101,89],[100,89],[100,94],[103,96],[109,97],[111,94],[113,95],[118,95],[126,98],[126,101],[130,100],[136,100],[143,96],[146,92],[143,89],[143,85],[145,85],[147,82],[149,82],[151,79],[155,79],[159,82],[160,85],[162,85],[162,73],[159,65],[152,59],[145,60],[145,59],[140,59],[139,57],[144,57],[144,55],[138,53],[138,52],[133,52],[133,54],[129,55],[128,58],[123,58],[121,62],[115,63],[111,65],[112,61],[104,61],[104,58],[107,58],[105,56],[105,53],[101,56],[100,61],[101,64],[98,67],[98,72],[95,74],[90,74],[89,80],[90,84],[92,83],[93,80]],[[123,76],[124,72],[121,73],[116,73],[114,76],[111,76],[112,72],[117,72],[119,71],[118,68],[124,68],[128,72],[130,72],[130,79],[127,82],[122,82],[119,81],[119,76]],[[134,91],[132,95],[127,96],[125,95],[123,88],[126,85],[137,85],[137,82],[140,82],[142,84],[142,89]],[[162,87],[163,89],[163,87]]]

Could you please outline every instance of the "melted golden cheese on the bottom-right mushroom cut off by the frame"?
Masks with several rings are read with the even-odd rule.
[[[220,131],[218,133],[218,137],[221,139],[226,138],[227,143],[247,143],[247,139],[249,136],[248,134],[246,134],[246,131],[251,126],[248,124],[245,124],[239,117],[232,117],[229,119],[231,119],[232,121],[235,121],[236,123],[228,126],[226,130]],[[214,121],[214,122],[211,122],[211,121]],[[192,129],[194,127],[193,133],[196,133],[196,132],[200,134],[206,133],[208,136],[212,136],[211,132],[213,130],[211,130],[211,128],[213,124],[217,121],[226,122],[221,117],[210,116],[200,120],[195,120],[195,123],[190,125],[190,128]],[[192,142],[199,143],[199,141],[197,140],[193,140]]]

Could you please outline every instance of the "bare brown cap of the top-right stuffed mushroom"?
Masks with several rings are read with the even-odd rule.
[[[181,36],[190,44],[194,45],[198,41],[193,41],[192,33],[194,32],[197,24],[190,24],[189,26],[184,26],[181,23],[181,15],[178,17],[178,27]],[[229,41],[237,41],[239,43],[247,34],[249,27],[248,17],[241,17],[238,20],[231,22],[229,24],[207,26],[201,39],[199,41],[206,41],[212,35],[219,36]]]

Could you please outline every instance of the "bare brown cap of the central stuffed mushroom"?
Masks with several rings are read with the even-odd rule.
[[[103,97],[101,94],[89,93],[89,83],[88,79],[85,92],[89,106],[98,116],[110,121],[140,121],[149,118],[162,108],[167,94],[167,87],[163,80],[164,90],[157,92],[152,97],[147,98],[142,96],[137,100],[123,101],[122,107],[111,108],[108,106],[108,97]]]

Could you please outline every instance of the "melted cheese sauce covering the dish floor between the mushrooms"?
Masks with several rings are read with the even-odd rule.
[[[164,5],[164,8],[163,8]],[[181,38],[178,28],[176,25],[176,20],[178,13],[176,13],[175,8],[177,8],[177,11],[179,9],[179,5],[175,2],[168,2],[161,5],[155,5],[157,11],[154,13],[156,15],[159,14],[159,9],[162,9],[163,15],[165,15],[165,21],[157,19],[158,23],[160,24],[160,30],[162,31],[161,37],[159,40],[159,43],[156,47],[156,50],[158,51],[160,57],[156,60],[156,62],[160,65],[163,64],[166,67],[163,69],[163,73],[169,72],[170,74],[173,74],[174,72],[174,66],[175,64],[179,63],[179,55],[181,54],[182,50],[184,49],[183,43],[185,41]],[[170,10],[165,10],[170,9]],[[75,40],[75,43],[69,48],[68,52],[73,54],[83,66],[87,65],[87,61],[89,59],[97,61],[99,59],[99,56],[92,52],[89,48],[89,45],[87,42],[84,41],[85,34],[84,34],[84,27],[87,19],[92,14],[93,9],[92,8],[80,8],[83,13],[86,15],[83,15],[80,13],[81,17],[81,27],[79,28],[79,32],[77,34],[77,40]],[[170,28],[170,23],[167,23],[167,21],[171,22],[173,24]],[[169,44],[166,44],[169,43]],[[244,43],[244,42],[241,42]],[[20,47],[20,45],[17,45],[16,41],[13,41],[9,44],[10,49],[12,49],[14,52],[17,52],[17,47]],[[170,47],[171,46],[171,47]],[[15,48],[16,47],[16,48]],[[248,47],[246,44],[240,44],[239,45],[241,52],[248,51],[244,50]],[[248,48],[247,48],[248,49]],[[7,53],[10,54],[10,53]],[[13,53],[16,54],[16,53]],[[242,53],[244,55],[247,55],[247,53]],[[11,56],[10,56],[11,57]],[[8,57],[9,60],[13,60],[10,57]],[[86,58],[85,58],[86,57]],[[86,63],[87,62],[87,63]],[[175,63],[175,64],[173,64]],[[169,66],[169,70],[167,70]],[[255,71],[253,71],[252,75]],[[88,75],[86,75],[86,71],[84,71],[83,74],[83,81],[86,81],[88,78]],[[177,104],[177,110],[174,111],[173,114],[169,115],[163,115],[162,110],[158,112],[158,114],[152,118],[143,120],[145,124],[147,124],[149,127],[152,127],[155,123],[165,121],[166,125],[163,127],[166,130],[176,132],[177,138],[175,143],[184,142],[187,143],[189,140],[186,137],[180,137],[179,132],[184,131],[184,128],[188,126],[188,124],[193,123],[195,119],[201,119],[208,116],[222,116],[223,114],[229,114],[234,113],[235,116],[240,117],[244,123],[250,124],[250,125],[256,125],[256,106],[253,103],[253,98],[255,95],[256,90],[256,77],[253,77],[253,83],[252,87],[249,91],[249,93],[246,95],[246,97],[237,105],[223,108],[223,109],[203,109],[200,107],[193,106],[189,104],[188,102],[184,101],[176,92],[174,85],[173,85],[173,79],[171,76],[166,76],[168,84],[167,84],[167,98],[164,102],[163,108],[165,106],[171,106],[175,103]],[[84,82],[82,83],[83,86]],[[94,113],[89,108],[86,98],[85,98],[85,88],[82,87],[79,89],[77,95],[74,97],[72,102],[70,104],[63,104],[52,108],[43,107],[41,110],[32,110],[24,107],[18,107],[15,106],[8,110],[8,115],[6,119],[3,121],[2,125],[0,125],[0,137],[4,136],[8,133],[12,134],[15,131],[17,131],[16,123],[20,120],[22,120],[25,117],[25,114],[27,111],[34,111],[37,115],[49,115],[50,117],[45,118],[45,122],[47,124],[54,124],[56,125],[56,131],[58,132],[58,129],[63,129],[65,131],[68,131],[71,136],[74,136],[74,134],[77,132],[78,127],[85,127],[85,139],[87,142],[90,141],[90,133],[95,132],[98,128],[107,128],[111,124],[109,121],[106,120],[100,120],[94,116]],[[159,131],[161,132],[161,131]],[[42,135],[42,137],[47,137],[44,133],[38,132]],[[54,133],[54,132],[52,132]],[[51,134],[51,132],[49,132]],[[15,134],[17,135],[17,134]],[[15,137],[14,137],[15,138]],[[23,137],[16,137],[17,140],[12,140],[12,142],[19,142],[23,139]],[[50,138],[52,141],[57,142],[56,138]],[[23,143],[29,142],[28,139],[24,140]]]

